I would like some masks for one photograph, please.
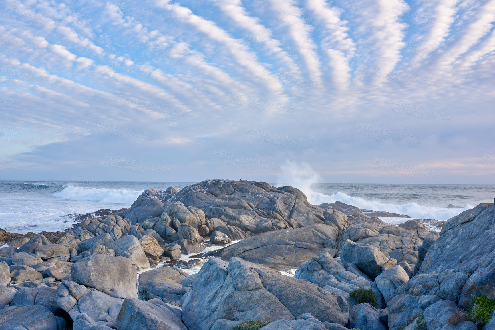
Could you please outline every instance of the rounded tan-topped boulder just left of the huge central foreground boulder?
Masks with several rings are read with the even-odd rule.
[[[180,305],[181,297],[186,293],[182,281],[187,277],[189,274],[177,267],[163,266],[144,272],[139,276],[139,296]]]

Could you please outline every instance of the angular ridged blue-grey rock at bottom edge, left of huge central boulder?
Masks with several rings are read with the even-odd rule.
[[[124,300],[115,321],[119,330],[187,330],[167,307],[132,298]]]

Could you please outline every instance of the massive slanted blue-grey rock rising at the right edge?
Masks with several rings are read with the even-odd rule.
[[[444,271],[468,276],[459,306],[472,304],[472,295],[495,298],[495,206],[480,204],[445,223],[440,237],[425,255],[418,274]]]

